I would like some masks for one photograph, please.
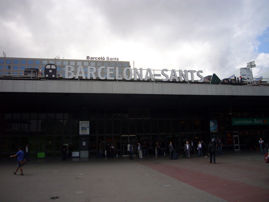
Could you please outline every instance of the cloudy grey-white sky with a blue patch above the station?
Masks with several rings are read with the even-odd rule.
[[[131,67],[224,77],[269,71],[268,0],[0,1],[6,57],[119,58]]]

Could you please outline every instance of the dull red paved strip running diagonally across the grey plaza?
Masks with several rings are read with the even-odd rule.
[[[190,171],[176,166],[165,165],[163,163],[158,164],[158,166],[156,166],[156,164],[149,165],[148,163],[140,163],[148,168],[156,170],[169,177],[173,177],[174,179],[229,202],[253,202],[256,200],[259,202],[269,201],[268,190],[261,187],[251,186],[250,184],[216,177],[202,172]],[[186,177],[190,175],[192,177]],[[221,183],[217,183],[217,181]]]

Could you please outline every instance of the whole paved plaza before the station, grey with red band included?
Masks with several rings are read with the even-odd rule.
[[[87,159],[0,160],[1,202],[268,202],[269,165],[259,151],[224,151],[216,164],[191,154]]]

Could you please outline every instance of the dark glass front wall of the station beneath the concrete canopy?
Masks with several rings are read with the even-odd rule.
[[[233,136],[238,135],[240,149],[254,149],[259,137],[268,140],[268,125],[232,126],[233,117],[269,117],[268,109],[215,109],[218,133],[209,133],[208,112],[205,109],[83,109],[83,120],[90,121],[89,155],[96,156],[97,145],[112,144],[114,152],[125,155],[126,137],[132,142],[161,142],[167,149],[173,142],[181,151],[186,141],[195,146],[214,136],[223,142],[223,150],[233,150]],[[70,143],[73,152],[80,151],[79,121],[81,109],[2,109],[0,113],[1,158],[9,158],[19,146],[29,144],[30,157],[60,157],[63,142]],[[183,151],[183,150],[182,150]],[[166,152],[166,151],[165,151]]]

